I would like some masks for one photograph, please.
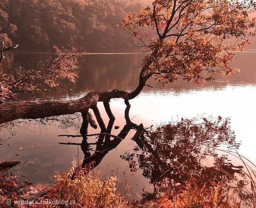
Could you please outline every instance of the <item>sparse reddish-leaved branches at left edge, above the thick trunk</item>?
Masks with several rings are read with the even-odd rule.
[[[3,64],[5,57],[3,53],[10,49],[5,48],[5,42],[2,38],[0,46],[0,64]],[[37,66],[30,69],[20,68],[12,71],[11,74],[0,72],[0,103],[17,100],[17,92],[38,92],[41,90],[50,90],[52,87],[58,87],[61,80],[67,79],[74,82],[77,77],[78,61],[80,56],[79,48],[71,43],[68,49],[63,47],[59,49],[54,46],[57,58],[51,59],[46,63],[40,62]]]

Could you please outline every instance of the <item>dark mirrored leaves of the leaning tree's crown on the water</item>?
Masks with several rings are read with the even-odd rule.
[[[154,198],[159,192],[168,193],[177,183],[183,187],[191,177],[199,185],[211,185],[226,177],[222,170],[231,176],[244,176],[241,166],[232,165],[226,156],[219,156],[214,150],[220,146],[239,147],[229,124],[229,119],[221,117],[217,121],[203,118],[203,122],[182,119],[175,125],[167,124],[146,133],[145,138],[136,141],[140,148],[135,147],[122,158],[128,160],[131,170],[143,169],[143,176],[154,185],[154,193],[144,195],[147,198]]]

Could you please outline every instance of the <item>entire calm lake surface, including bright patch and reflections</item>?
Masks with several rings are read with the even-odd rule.
[[[48,56],[9,53],[5,64],[26,67]],[[139,70],[128,72],[128,69],[140,66],[142,58],[143,54],[84,55],[75,84],[64,82],[61,91],[25,95],[25,99],[68,100],[80,98],[90,90],[132,90],[137,85]],[[131,100],[131,122],[125,120],[123,100],[113,99],[111,109],[116,120],[109,124],[108,130],[124,137],[122,141],[99,138],[97,145],[83,141],[79,148],[59,144],[81,143],[81,138],[58,137],[79,134],[79,114],[46,118],[43,122],[16,121],[1,128],[0,161],[24,160],[12,172],[18,172],[20,182],[28,180],[38,185],[52,181],[56,171],[68,170],[79,151],[80,161],[96,161],[95,169],[102,177],[116,174],[120,184],[127,179],[133,187],[128,199],[137,200],[168,192],[173,184],[186,183],[188,175],[195,176],[199,182],[209,178],[219,180],[222,173],[215,168],[239,176],[240,162],[216,148],[236,149],[256,162],[255,58],[253,50],[237,53],[234,65],[239,66],[240,74],[199,86],[177,81],[163,87],[148,81],[154,88],[145,87]],[[108,117],[101,103],[99,109],[107,125]],[[131,140],[141,123],[147,128],[144,138],[137,142]],[[120,128],[116,130],[114,126]],[[89,133],[99,131],[89,128]],[[88,143],[96,141],[95,137],[87,139]]]

